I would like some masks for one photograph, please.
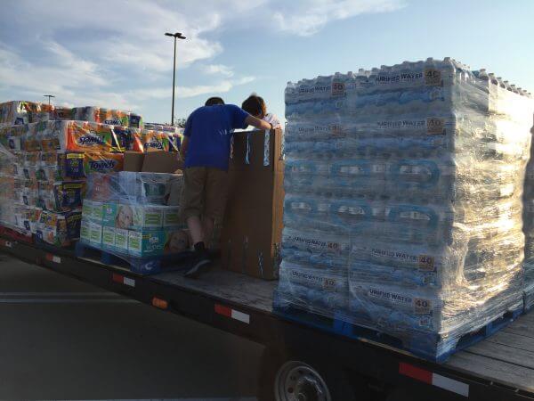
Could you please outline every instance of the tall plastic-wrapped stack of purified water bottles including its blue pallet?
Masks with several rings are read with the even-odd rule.
[[[516,314],[533,110],[449,58],[289,83],[275,307],[434,360]]]

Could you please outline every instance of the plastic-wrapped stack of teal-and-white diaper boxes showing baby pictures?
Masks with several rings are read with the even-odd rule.
[[[93,173],[87,182],[80,242],[127,262],[140,274],[157,273],[164,258],[190,250],[179,206],[167,206],[179,174]]]

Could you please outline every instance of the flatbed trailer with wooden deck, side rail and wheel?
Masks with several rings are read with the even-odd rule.
[[[341,401],[534,399],[534,314],[436,364],[376,341],[280,318],[272,311],[276,282],[217,268],[198,280],[180,272],[142,276],[76,258],[69,250],[7,239],[0,239],[0,250],[265,345],[262,400],[274,400],[275,391],[279,399],[328,399],[326,388],[331,399]],[[291,398],[294,385],[303,397]]]

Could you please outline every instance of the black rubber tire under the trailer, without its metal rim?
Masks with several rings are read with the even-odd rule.
[[[340,366],[324,359],[295,353],[282,353],[275,348],[265,348],[258,383],[259,401],[275,401],[275,381],[279,369],[288,361],[310,365],[326,382],[332,401],[368,401],[367,383],[356,375],[349,375]]]

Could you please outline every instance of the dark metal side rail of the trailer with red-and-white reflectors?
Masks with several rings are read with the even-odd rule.
[[[66,250],[43,250],[0,238],[0,250],[57,273],[136,299],[168,312],[274,349],[292,349],[334,358],[336,364],[365,377],[376,386],[403,386],[421,399],[519,401],[534,393],[503,386],[470,372],[426,362],[398,349],[363,340],[350,340],[227,299],[158,282],[154,276],[125,273],[74,257]],[[533,378],[534,379],[534,378]]]

